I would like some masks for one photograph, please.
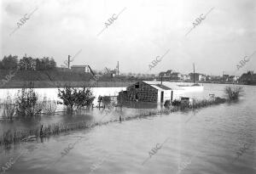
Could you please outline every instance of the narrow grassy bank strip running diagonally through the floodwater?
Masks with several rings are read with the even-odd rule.
[[[9,145],[12,143],[21,143],[21,142],[30,141],[30,140],[34,141],[34,140],[37,140],[38,138],[48,138],[49,136],[58,135],[62,132],[70,132],[70,131],[75,131],[79,129],[92,128],[94,126],[102,126],[113,121],[129,121],[131,119],[143,118],[143,117],[148,117],[152,115],[169,115],[172,112],[200,109],[213,104],[223,104],[224,102],[226,102],[225,99],[219,99],[219,98],[215,98],[211,100],[205,99],[205,100],[195,102],[192,105],[170,106],[170,107],[166,107],[165,109],[160,109],[155,111],[145,111],[143,113],[140,113],[138,115],[133,115],[133,116],[122,115],[121,119],[117,118],[111,121],[91,120],[91,121],[81,121],[81,122],[65,123],[65,124],[55,123],[55,124],[50,124],[48,126],[42,125],[26,131],[9,129],[8,131],[3,132],[3,134],[0,136],[0,146],[4,146],[5,148],[8,148]]]

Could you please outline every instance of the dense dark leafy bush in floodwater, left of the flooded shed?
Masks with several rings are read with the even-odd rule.
[[[90,106],[94,100],[94,96],[92,95],[90,88],[78,89],[74,87],[65,86],[63,90],[58,89],[58,97],[62,99],[63,103],[67,106],[67,109],[73,110],[81,109],[84,106]]]

